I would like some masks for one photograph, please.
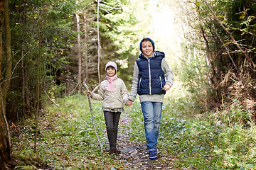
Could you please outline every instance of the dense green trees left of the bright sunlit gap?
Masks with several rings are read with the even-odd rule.
[[[127,1],[119,1],[116,8],[113,3],[108,1],[107,7],[100,8],[101,79],[109,60],[127,60],[136,53],[132,45],[138,37],[131,29],[137,21],[124,5]],[[9,120],[23,120],[35,111],[39,50],[42,100],[75,94],[85,78],[92,87],[97,85],[97,1],[10,1],[9,6],[14,68],[6,106]],[[126,78],[126,69],[119,72],[126,73],[121,76],[125,80],[131,79]]]

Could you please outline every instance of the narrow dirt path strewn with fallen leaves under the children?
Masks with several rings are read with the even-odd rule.
[[[128,113],[122,113],[117,137],[117,147],[121,150],[121,154],[114,155],[114,158],[131,169],[172,169],[171,164],[173,164],[174,159],[167,158],[158,150],[159,158],[151,160],[148,157],[146,141],[141,143],[130,139],[129,130],[127,129],[129,121]]]

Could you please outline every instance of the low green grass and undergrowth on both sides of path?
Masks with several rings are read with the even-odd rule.
[[[92,126],[87,96],[75,95],[48,104],[39,118],[34,148],[34,120],[12,132],[16,169],[133,169],[107,154],[108,142],[102,102],[92,101],[100,145]],[[139,102],[125,106],[130,118],[129,137],[145,144],[143,115]],[[166,99],[159,133],[159,162],[169,169],[255,169],[256,129],[240,123],[220,124],[215,113],[197,113],[186,99]],[[132,160],[131,160],[132,161]]]

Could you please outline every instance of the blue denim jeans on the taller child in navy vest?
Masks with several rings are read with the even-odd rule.
[[[149,151],[156,150],[163,103],[144,101],[141,106],[144,115],[146,146]]]

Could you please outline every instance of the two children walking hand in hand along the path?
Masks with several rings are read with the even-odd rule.
[[[114,62],[106,64],[105,72],[107,76],[100,83],[99,94],[87,91],[87,95],[95,100],[103,101],[102,111],[105,115],[110,154],[119,154],[117,130],[120,115],[124,111],[123,103],[131,106],[137,94],[139,94],[144,115],[144,130],[149,159],[157,159],[156,145],[159,137],[164,94],[173,84],[173,74],[166,60],[164,60],[164,52],[154,50],[153,40],[143,38],[139,48],[142,53],[134,64],[132,90],[129,96],[124,81],[117,78],[117,64]]]

